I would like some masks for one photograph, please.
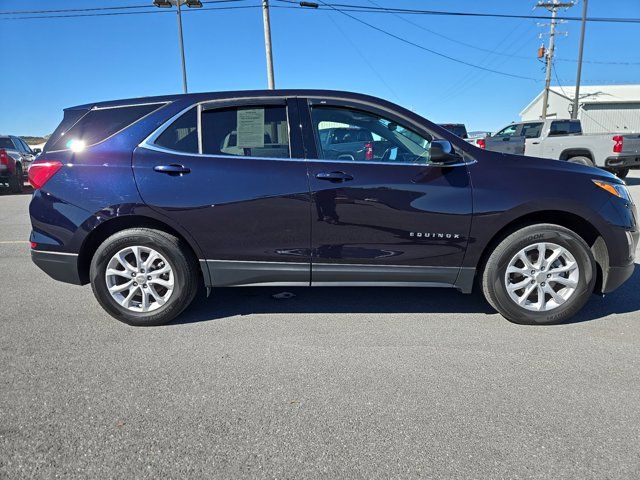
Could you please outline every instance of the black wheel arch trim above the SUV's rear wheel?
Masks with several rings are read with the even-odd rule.
[[[187,238],[186,235],[183,235],[167,223],[144,215],[122,215],[113,217],[100,223],[87,235],[87,237],[82,242],[82,246],[78,254],[78,274],[82,284],[84,285],[89,283],[89,267],[91,265],[91,259],[93,258],[94,253],[96,252],[100,244],[102,244],[102,242],[104,242],[114,233],[126,230],[127,228],[140,227],[161,230],[177,237],[178,239],[182,240],[185,245],[188,246],[196,260],[200,258],[200,255],[198,254],[200,249],[198,248],[198,246],[194,245],[194,242]],[[198,268],[202,272],[205,281],[208,281],[208,270],[202,270],[200,265],[198,265]]]

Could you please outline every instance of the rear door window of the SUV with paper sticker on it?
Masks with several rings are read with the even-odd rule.
[[[202,153],[288,158],[284,106],[234,107],[202,112]]]

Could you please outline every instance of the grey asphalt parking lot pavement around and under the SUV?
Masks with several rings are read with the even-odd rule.
[[[640,270],[553,327],[228,289],[132,328],[31,264],[29,198],[0,195],[2,478],[640,478]]]

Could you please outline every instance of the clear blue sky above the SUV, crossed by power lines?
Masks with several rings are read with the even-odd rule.
[[[332,1],[371,5],[368,0]],[[525,15],[533,12],[535,3],[534,0],[375,1],[384,6]],[[0,11],[150,3],[152,0],[0,0]],[[245,0],[237,4],[258,3],[259,0]],[[282,5],[276,0],[271,3]],[[612,5],[614,9],[610,8]],[[580,12],[581,5],[577,5],[566,14],[580,16]],[[276,87],[369,93],[436,122],[464,122],[470,130],[496,130],[518,119],[518,112],[543,87],[543,65],[535,55],[541,43],[538,34],[548,29],[536,26],[535,20],[353,15],[460,60],[537,81],[456,64],[336,12],[273,8]],[[615,4],[591,0],[589,15],[640,17],[640,0],[617,0]],[[259,8],[187,11],[183,19],[191,92],[266,88]],[[579,26],[579,22],[560,26],[568,36],[558,39],[558,59],[577,58]],[[583,83],[640,83],[640,50],[632,48],[640,44],[639,36],[640,24],[590,23],[585,60],[636,64],[585,63]],[[180,93],[182,89],[173,13],[0,20],[0,44],[5,47],[0,76],[0,133],[43,135],[53,131],[62,109],[68,106]],[[530,58],[495,55],[482,49]],[[565,84],[574,83],[575,69],[575,62],[559,60],[556,64],[557,75]]]

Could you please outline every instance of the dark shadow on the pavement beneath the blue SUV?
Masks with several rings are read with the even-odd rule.
[[[593,295],[567,323],[581,323],[612,314],[640,310],[640,269],[615,292],[604,298]],[[294,296],[275,299],[274,294]],[[201,292],[194,303],[171,325],[219,320],[252,314],[317,313],[458,313],[495,314],[476,288],[471,295],[454,289],[389,287],[239,287],[213,289],[209,298]]]

